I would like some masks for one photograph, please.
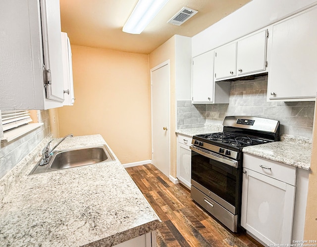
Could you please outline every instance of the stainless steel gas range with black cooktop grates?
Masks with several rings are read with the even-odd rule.
[[[279,140],[279,121],[227,116],[223,132],[193,136],[191,197],[232,232],[240,226],[242,148]]]

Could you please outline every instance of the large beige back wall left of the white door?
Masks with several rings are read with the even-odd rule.
[[[72,46],[74,106],[59,133],[101,134],[122,164],[151,159],[149,56]]]

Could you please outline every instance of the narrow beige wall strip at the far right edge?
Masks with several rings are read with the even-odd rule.
[[[313,128],[313,150],[309,175],[304,240],[317,240],[317,100]],[[316,243],[314,243],[316,244]]]

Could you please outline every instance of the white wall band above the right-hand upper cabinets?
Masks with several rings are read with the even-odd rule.
[[[316,4],[316,0],[252,0],[192,38],[195,57]]]

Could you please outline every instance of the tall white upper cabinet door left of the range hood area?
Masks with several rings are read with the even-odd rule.
[[[193,58],[192,100],[213,102],[213,51]]]

